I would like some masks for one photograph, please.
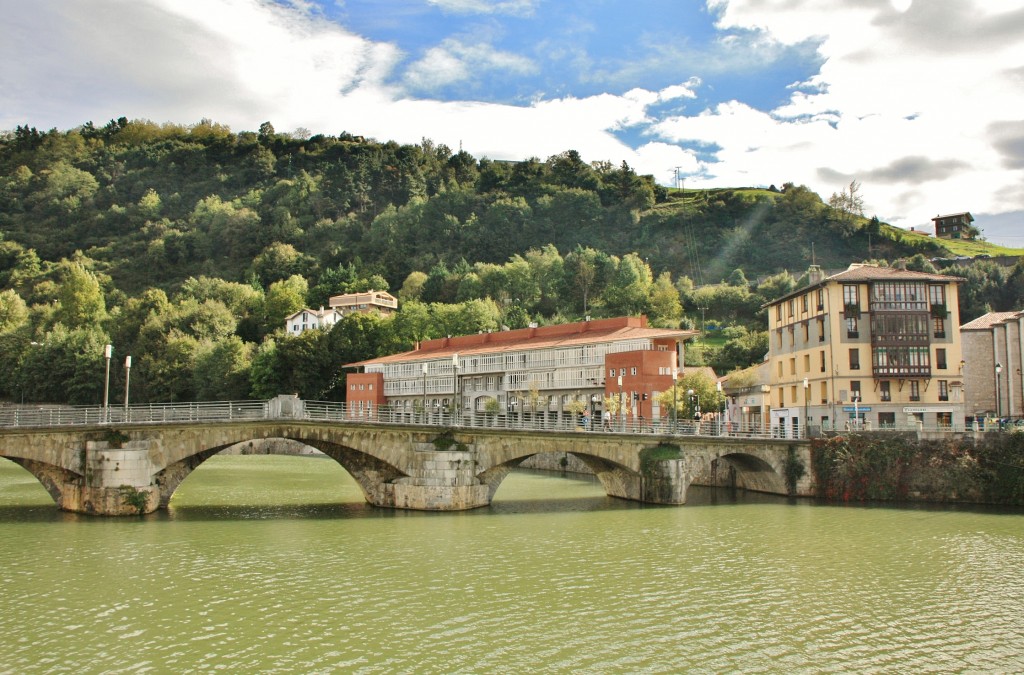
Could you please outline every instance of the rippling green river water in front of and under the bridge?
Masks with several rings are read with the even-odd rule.
[[[0,673],[1024,670],[1020,513],[540,473],[418,513],[322,458],[217,457],[105,519],[3,461],[0,542]]]

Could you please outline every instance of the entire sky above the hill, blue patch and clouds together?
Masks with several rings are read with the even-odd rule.
[[[687,187],[857,180],[868,215],[971,211],[1024,247],[1024,0],[5,5],[0,129],[270,121]]]

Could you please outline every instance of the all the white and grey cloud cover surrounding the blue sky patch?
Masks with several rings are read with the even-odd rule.
[[[657,117],[660,103],[692,100],[714,80],[524,107],[412,100],[388,84],[403,57],[397,47],[344,30],[305,0],[34,0],[11,3],[0,23],[8,64],[0,70],[0,128],[71,128],[124,115],[209,117],[254,130],[269,120],[280,129],[399,142],[429,137],[492,159],[571,149],[588,161],[625,160],[666,184],[679,166],[692,174],[688,186],[793,181],[827,198],[856,178],[869,213],[905,225],[928,224],[937,212],[1024,211],[1020,2],[708,2],[723,31],[740,31],[757,53],[815,41],[820,71],[794,83],[776,110],[734,100],[667,119]],[[517,15],[537,6],[433,4]],[[734,52],[713,50],[709,73],[734,68],[752,50]],[[403,77],[418,91],[462,83],[470,90],[480,76],[539,69],[476,36],[441,41]],[[624,131],[647,141],[631,147]],[[701,163],[708,153],[713,161]]]

